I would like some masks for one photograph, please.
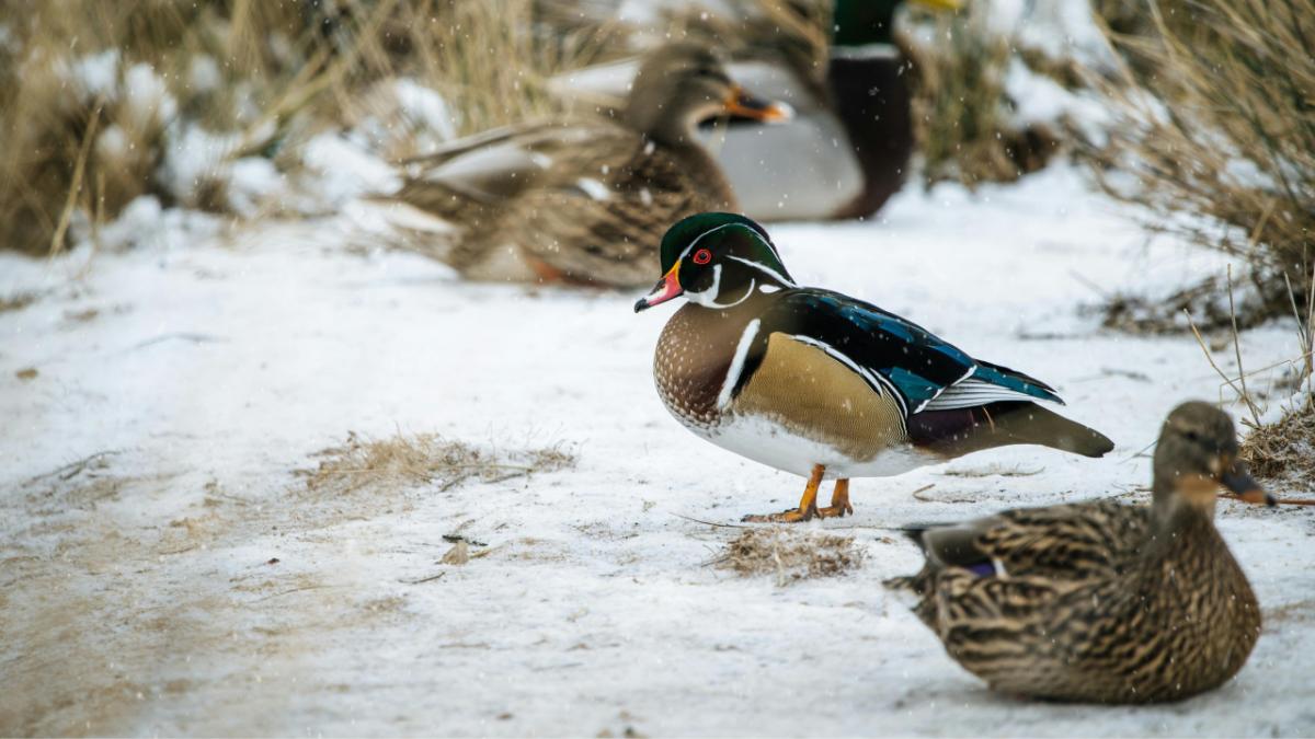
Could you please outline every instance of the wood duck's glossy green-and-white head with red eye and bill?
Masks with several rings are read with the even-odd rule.
[[[635,313],[681,295],[705,308],[731,308],[755,295],[796,287],[767,229],[736,213],[698,213],[661,239],[661,271]]]

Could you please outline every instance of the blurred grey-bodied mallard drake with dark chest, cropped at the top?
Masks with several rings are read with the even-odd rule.
[[[910,1],[935,11],[963,5]],[[785,18],[740,24],[751,54],[761,58],[730,67],[751,89],[788,103],[794,120],[768,128],[732,117],[730,125],[700,130],[740,208],[759,221],[872,216],[902,187],[913,155],[910,67],[894,43],[905,0],[835,0],[822,13],[830,22],[814,22],[818,13],[810,5],[817,3],[786,3],[777,13],[788,13]],[[759,26],[767,33],[755,33]],[[830,28],[830,42],[825,33],[810,38],[810,26]],[[575,71],[559,76],[554,89],[597,105],[621,99],[634,70],[631,60]]]

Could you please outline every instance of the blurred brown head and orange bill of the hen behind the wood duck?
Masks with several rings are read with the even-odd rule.
[[[714,49],[692,42],[660,46],[644,58],[626,99],[626,122],[665,143],[693,141],[693,129],[715,116],[788,121],[784,103],[753,97],[726,72]]]

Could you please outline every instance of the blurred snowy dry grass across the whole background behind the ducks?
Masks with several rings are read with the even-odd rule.
[[[735,12],[672,11],[655,34],[614,0],[11,0],[5,246],[95,242],[139,196],[242,218],[314,212],[287,183],[317,133],[350,131],[397,162],[558,112],[550,78],[655,38],[825,68],[827,3],[718,5]],[[948,16],[909,8],[899,30],[915,180],[974,187],[1076,156],[1118,197],[1233,226],[1161,220],[1247,256],[1258,316],[1307,304],[1315,0],[969,0]]]

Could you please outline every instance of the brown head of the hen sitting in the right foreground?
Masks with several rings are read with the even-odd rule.
[[[1220,487],[1247,502],[1274,505],[1237,459],[1232,418],[1208,402],[1185,402],[1169,413],[1156,442],[1156,505],[1181,500],[1214,510]]]

